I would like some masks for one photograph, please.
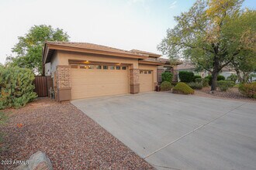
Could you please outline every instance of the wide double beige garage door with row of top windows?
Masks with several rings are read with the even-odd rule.
[[[128,93],[126,66],[71,66],[71,98],[101,97]]]

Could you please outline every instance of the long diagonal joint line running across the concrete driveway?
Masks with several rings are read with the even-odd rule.
[[[247,102],[245,102],[244,104],[247,104]],[[179,140],[181,140],[182,138],[185,138],[185,137],[188,136],[189,134],[192,134],[193,132],[199,130],[200,128],[205,127],[207,124],[210,124],[210,123],[212,123],[213,121],[216,121],[216,120],[219,119],[220,117],[223,117],[223,116],[229,114],[231,111],[236,110],[237,108],[239,108],[239,107],[241,107],[241,106],[244,106],[244,104],[240,104],[239,106],[235,107],[234,109],[231,109],[231,110],[227,111],[226,113],[221,114],[220,116],[214,118],[212,121],[208,121],[208,122],[206,122],[206,124],[202,124],[202,125],[199,126],[198,128],[195,128],[195,129],[193,129],[192,131],[189,131],[187,134],[184,134],[184,135],[181,136],[180,138],[175,139],[175,141],[171,141],[171,142],[168,143],[167,145],[164,145],[162,148],[159,148],[159,149],[157,149],[156,151],[151,152],[149,155],[145,156],[144,159],[146,160],[147,158],[149,158],[150,156],[154,155],[154,154],[157,153],[158,151],[161,151],[162,149],[164,149],[164,148],[166,148],[166,147],[168,147],[168,146],[174,144],[176,141],[179,141]]]

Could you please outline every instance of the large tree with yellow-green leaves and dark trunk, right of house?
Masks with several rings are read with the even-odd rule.
[[[243,53],[255,56],[255,11],[241,8],[243,0],[197,0],[189,12],[175,17],[158,49],[170,59],[184,57],[212,73],[211,90],[224,66]],[[250,40],[249,40],[250,39]],[[249,43],[247,43],[249,42]],[[253,49],[253,50],[252,50]]]

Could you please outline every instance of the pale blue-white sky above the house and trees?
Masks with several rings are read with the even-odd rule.
[[[174,16],[195,0],[0,0],[0,63],[33,25],[64,29],[74,42],[157,52]],[[255,0],[244,6],[256,8]]]

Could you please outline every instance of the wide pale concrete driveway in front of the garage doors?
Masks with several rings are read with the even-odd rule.
[[[256,103],[152,92],[72,104],[157,169],[256,167]]]

